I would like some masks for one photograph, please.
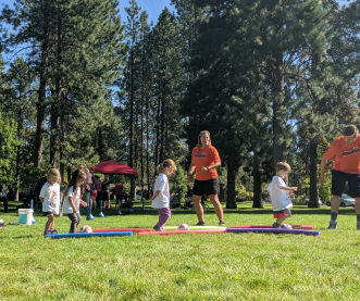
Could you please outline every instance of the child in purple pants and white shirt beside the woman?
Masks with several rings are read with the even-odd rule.
[[[169,180],[167,176],[176,171],[175,162],[171,159],[166,159],[160,165],[158,165],[157,171],[159,176],[154,185],[154,193],[150,198],[152,201],[152,208],[159,211],[159,222],[153,226],[156,231],[163,231],[164,224],[171,216],[170,211],[170,193],[169,193]]]

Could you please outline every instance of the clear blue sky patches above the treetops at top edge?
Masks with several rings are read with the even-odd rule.
[[[12,5],[13,0],[0,0],[2,4]],[[137,5],[141,8],[141,11],[147,11],[149,18],[148,23],[153,21],[153,24],[158,23],[158,17],[161,14],[162,10],[167,7],[167,9],[173,12],[175,11],[173,5],[170,5],[171,0],[137,0]],[[2,7],[2,5],[1,5]],[[119,0],[119,10],[121,14],[121,21],[126,22],[126,13],[124,8],[129,7],[129,0]],[[1,8],[0,8],[1,10]]]

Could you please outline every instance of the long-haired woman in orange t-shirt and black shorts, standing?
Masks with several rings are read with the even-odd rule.
[[[211,146],[210,133],[208,130],[200,131],[198,136],[198,145],[191,153],[191,164],[187,173],[187,184],[191,180],[191,175],[196,171],[196,177],[193,188],[193,202],[199,223],[197,226],[204,226],[203,208],[201,205],[201,197],[209,196],[211,203],[214,205],[219,225],[224,226],[223,208],[219,201],[220,192],[219,176],[216,167],[221,165],[221,160],[218,150]]]

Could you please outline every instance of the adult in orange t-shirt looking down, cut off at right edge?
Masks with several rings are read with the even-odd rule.
[[[332,202],[331,221],[327,229],[337,228],[339,201],[346,181],[349,184],[349,195],[355,198],[357,229],[360,230],[360,135],[355,125],[344,130],[344,136],[335,139],[321,160],[320,185],[324,185],[324,171],[327,160],[335,156],[332,170]]]

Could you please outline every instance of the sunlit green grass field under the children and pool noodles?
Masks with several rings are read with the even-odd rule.
[[[152,227],[157,211],[86,221],[92,228]],[[338,229],[325,230],[330,208],[295,206],[289,224],[313,225],[321,237],[202,234],[45,239],[47,217],[32,226],[9,225],[0,213],[0,300],[359,300],[360,231],[353,209],[340,209]],[[172,210],[166,226],[197,223],[195,211]],[[67,217],[55,229],[67,233]],[[207,225],[218,225],[213,210]],[[271,225],[270,205],[225,210],[225,223]]]

